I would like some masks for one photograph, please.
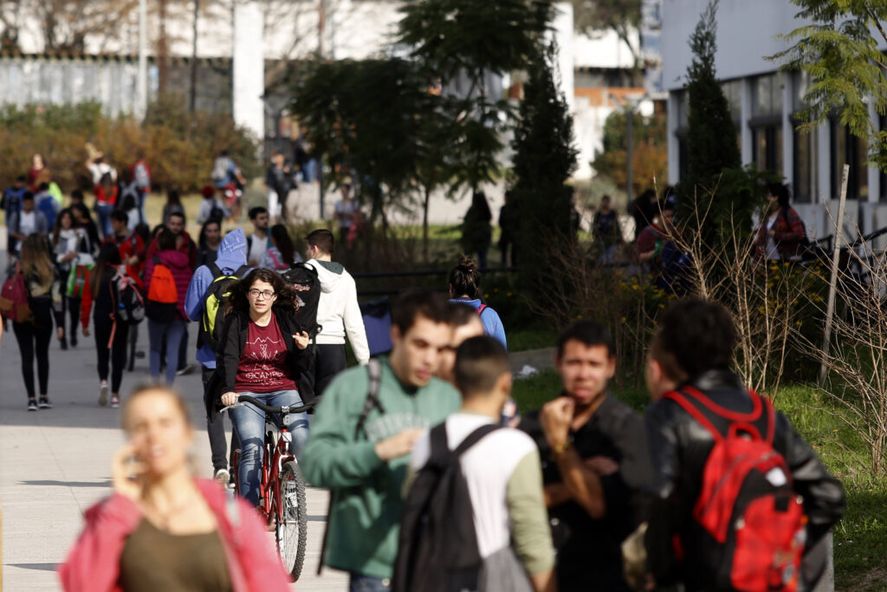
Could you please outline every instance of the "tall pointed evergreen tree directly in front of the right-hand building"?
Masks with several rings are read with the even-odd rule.
[[[753,176],[742,170],[736,127],[715,72],[718,0],[712,0],[690,36],[693,61],[687,69],[689,117],[687,174],[681,179],[679,223],[699,231],[709,248],[730,244],[730,237],[751,231],[758,205]]]

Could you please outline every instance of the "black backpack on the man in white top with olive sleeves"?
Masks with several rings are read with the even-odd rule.
[[[501,426],[484,425],[450,450],[446,422],[429,434],[431,453],[407,495],[400,523],[392,592],[471,592],[483,559],[459,458]]]

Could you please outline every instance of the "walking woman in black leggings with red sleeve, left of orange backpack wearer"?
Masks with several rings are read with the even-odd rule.
[[[99,405],[108,404],[110,389],[111,407],[120,405],[120,384],[126,366],[126,344],[129,325],[118,323],[114,280],[122,266],[120,250],[116,245],[102,247],[95,268],[87,276],[80,310],[83,336],[89,337],[89,311],[93,310],[92,327],[95,333],[95,350],[99,372]],[[108,385],[110,366],[111,384]]]

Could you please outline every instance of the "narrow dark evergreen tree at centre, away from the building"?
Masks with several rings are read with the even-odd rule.
[[[529,296],[543,298],[559,273],[554,255],[567,252],[576,240],[572,192],[564,183],[576,167],[577,151],[573,118],[555,85],[556,58],[551,43],[530,64],[512,144],[521,284]]]

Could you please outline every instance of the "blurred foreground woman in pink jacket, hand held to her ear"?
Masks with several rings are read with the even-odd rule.
[[[255,511],[192,475],[194,428],[175,391],[137,389],[124,404],[123,429],[114,491],[87,510],[59,569],[64,590],[289,589]]]

